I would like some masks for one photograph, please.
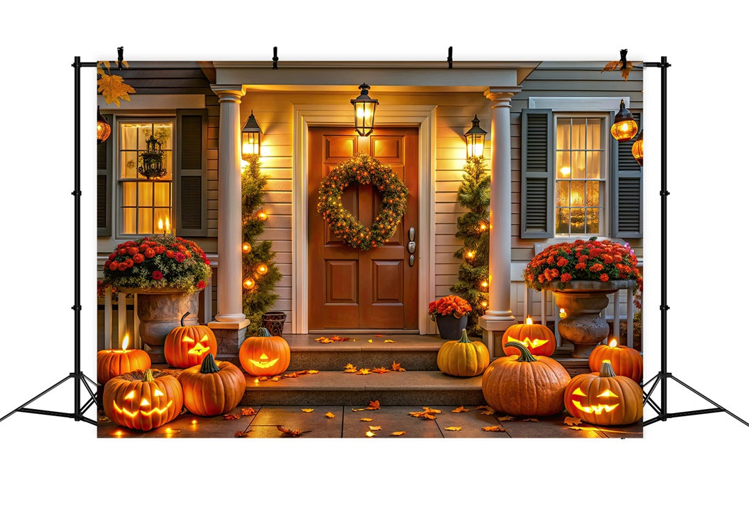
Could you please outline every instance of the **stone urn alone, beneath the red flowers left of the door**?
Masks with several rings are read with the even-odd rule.
[[[185,312],[184,326],[198,324],[198,298],[200,291],[187,293],[175,288],[118,289],[124,293],[138,294],[139,333],[151,363],[166,363],[164,340],[169,332],[179,327]]]

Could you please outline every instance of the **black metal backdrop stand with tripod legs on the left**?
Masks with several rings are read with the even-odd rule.
[[[121,60],[121,58],[120,58]],[[89,424],[93,424],[96,426],[97,421],[93,419],[89,419],[88,417],[85,417],[83,414],[88,410],[88,408],[91,408],[91,405],[95,405],[96,395],[94,394],[93,390],[91,390],[91,387],[89,387],[89,383],[91,383],[94,388],[96,387],[96,382],[93,381],[91,378],[88,378],[88,376],[84,375],[81,371],[81,67],[96,67],[96,62],[81,62],[80,57],[76,57],[75,61],[73,62],[73,70],[75,71],[75,121],[74,121],[74,151],[75,151],[75,189],[73,190],[73,197],[75,198],[75,253],[74,253],[74,288],[75,288],[75,304],[73,305],[73,313],[75,314],[75,330],[73,334],[73,345],[74,345],[74,351],[73,351],[73,362],[75,365],[75,369],[73,372],[71,372],[69,375],[67,375],[65,378],[62,378],[60,381],[58,381],[56,384],[52,385],[52,387],[49,387],[46,390],[43,390],[43,392],[37,394],[37,396],[32,397],[27,402],[20,405],[15,410],[11,411],[9,414],[4,415],[0,419],[0,421],[3,421],[7,419],[7,417],[10,417],[11,415],[15,414],[16,411],[22,411],[26,414],[40,414],[40,415],[53,415],[55,417],[68,417],[70,419],[78,421],[84,421]],[[52,411],[52,410],[40,410],[38,408],[27,408],[27,405],[30,405],[32,402],[39,399],[41,396],[44,396],[49,391],[55,389],[56,387],[59,387],[61,384],[64,384],[64,382],[68,380],[73,380],[74,387],[73,387],[73,412],[67,413],[62,411]],[[85,387],[85,389],[88,391],[88,395],[91,396],[87,402],[85,402],[83,405],[81,405],[81,385]]]

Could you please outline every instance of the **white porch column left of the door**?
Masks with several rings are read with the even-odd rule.
[[[219,96],[219,270],[216,321],[242,323],[242,182],[239,105],[243,85],[213,85]]]

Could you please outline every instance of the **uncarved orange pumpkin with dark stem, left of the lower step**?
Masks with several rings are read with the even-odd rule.
[[[200,366],[185,369],[177,378],[182,384],[185,406],[195,415],[226,414],[244,396],[244,373],[231,362],[207,354]]]

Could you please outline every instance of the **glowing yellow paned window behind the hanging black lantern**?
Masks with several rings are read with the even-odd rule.
[[[118,180],[120,184],[121,234],[150,235],[174,229],[172,214],[174,119],[118,121]],[[154,136],[163,150],[166,174],[147,178],[139,172],[146,141]],[[160,221],[162,227],[160,228]]]

